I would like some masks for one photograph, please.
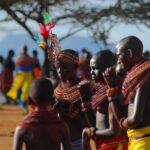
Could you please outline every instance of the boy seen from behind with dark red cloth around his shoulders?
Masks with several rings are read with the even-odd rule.
[[[33,111],[17,126],[13,150],[71,150],[67,125],[53,113],[53,86],[46,78],[34,80],[30,86],[29,105]]]

